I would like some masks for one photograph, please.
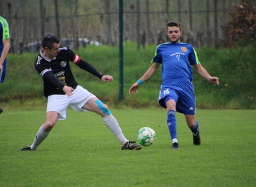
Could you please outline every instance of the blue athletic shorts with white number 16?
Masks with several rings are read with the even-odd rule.
[[[196,114],[196,98],[194,87],[189,80],[173,80],[164,82],[161,85],[161,90],[158,98],[159,105],[167,108],[164,102],[165,97],[169,97],[176,101],[176,111],[182,114]]]

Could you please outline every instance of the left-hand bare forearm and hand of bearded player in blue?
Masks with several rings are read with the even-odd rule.
[[[146,80],[150,79],[158,70],[160,64],[159,63],[155,63],[153,62],[152,66],[146,71],[146,73],[144,73],[144,75],[142,75],[142,78],[140,78],[139,80],[141,80],[142,82],[145,82]],[[129,89],[129,94],[136,94],[137,93],[137,89],[139,88],[139,83],[135,82]]]

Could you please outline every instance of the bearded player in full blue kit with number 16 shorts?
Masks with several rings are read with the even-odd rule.
[[[158,102],[167,109],[167,125],[171,134],[172,148],[178,150],[176,134],[176,112],[185,114],[187,125],[193,134],[194,145],[200,145],[199,125],[196,121],[196,98],[192,84],[191,65],[205,79],[219,85],[219,79],[212,77],[200,64],[196,51],[191,44],[180,42],[182,31],[180,23],[170,21],[167,24],[169,42],[160,44],[155,51],[153,64],[129,89],[130,94],[136,94],[139,86],[151,78],[162,64],[162,85]]]

